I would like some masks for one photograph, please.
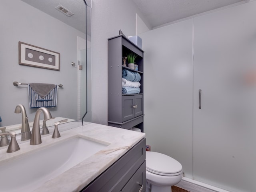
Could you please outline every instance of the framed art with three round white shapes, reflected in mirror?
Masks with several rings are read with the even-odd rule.
[[[60,53],[19,42],[19,64],[60,70]]]

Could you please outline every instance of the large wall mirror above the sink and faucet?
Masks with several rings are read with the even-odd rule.
[[[62,84],[57,106],[48,108],[53,117],[91,122],[90,107],[90,1],[88,0],[4,0],[0,6],[2,41],[0,45],[0,126],[21,124],[24,105],[28,122],[38,108],[29,108],[28,83]],[[62,12],[56,9],[61,5]],[[74,13],[67,16],[63,12]],[[18,42],[58,52],[60,70],[19,64]],[[13,86],[13,82],[20,82]],[[43,114],[40,119],[44,118]],[[56,121],[55,121],[56,122]]]

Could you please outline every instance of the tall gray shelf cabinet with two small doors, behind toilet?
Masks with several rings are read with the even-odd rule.
[[[138,70],[124,66],[123,57],[136,54],[135,64]],[[118,128],[143,129],[143,54],[144,51],[124,35],[108,38],[108,125]],[[138,73],[140,76],[140,92],[122,93],[123,70]]]

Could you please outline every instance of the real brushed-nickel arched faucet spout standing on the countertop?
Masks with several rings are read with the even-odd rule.
[[[38,144],[42,143],[41,134],[40,134],[40,126],[39,126],[39,120],[40,120],[39,118],[40,118],[41,112],[44,113],[44,119],[52,118],[51,112],[45,107],[40,107],[36,111],[33,128],[32,128],[31,139],[30,139],[30,145],[38,145]]]

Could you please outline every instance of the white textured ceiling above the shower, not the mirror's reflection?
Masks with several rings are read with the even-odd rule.
[[[133,0],[155,28],[244,0]]]

